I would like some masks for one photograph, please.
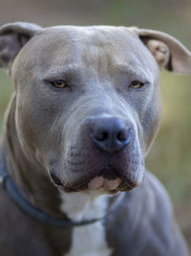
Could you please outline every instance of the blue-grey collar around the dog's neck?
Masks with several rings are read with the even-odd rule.
[[[50,224],[57,227],[74,227],[74,226],[81,226],[86,224],[91,224],[96,221],[102,221],[103,218],[93,219],[91,221],[71,221],[71,220],[62,220],[53,218],[43,211],[35,208],[32,204],[27,201],[23,196],[20,194],[16,186],[11,180],[11,176],[7,172],[6,167],[6,160],[4,152],[1,151],[1,166],[0,166],[0,183],[3,184],[5,190],[9,193],[11,198],[17,203],[17,205],[28,215],[30,215],[36,221]]]

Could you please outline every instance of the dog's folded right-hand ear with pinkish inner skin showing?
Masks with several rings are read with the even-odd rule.
[[[191,74],[191,52],[176,38],[152,30],[132,28],[156,58],[159,68],[180,74]]]

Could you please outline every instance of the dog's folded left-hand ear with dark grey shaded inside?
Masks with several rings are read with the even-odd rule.
[[[25,22],[0,27],[0,67],[11,70],[11,64],[21,48],[40,30],[40,26]]]

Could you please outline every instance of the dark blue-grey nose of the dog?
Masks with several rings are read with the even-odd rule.
[[[123,119],[96,117],[92,122],[91,138],[101,150],[113,153],[130,142],[130,129]]]

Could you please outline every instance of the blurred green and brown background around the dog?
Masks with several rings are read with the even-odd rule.
[[[1,0],[0,24],[138,26],[174,35],[191,50],[190,0]],[[0,71],[0,128],[11,97],[11,78]],[[191,248],[191,76],[162,71],[163,119],[146,165],[167,188]]]

